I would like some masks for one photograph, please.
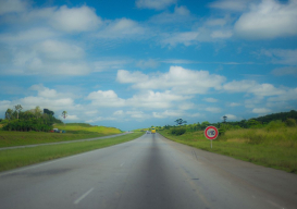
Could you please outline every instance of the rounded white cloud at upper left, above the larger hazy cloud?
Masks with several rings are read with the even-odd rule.
[[[69,9],[61,7],[50,20],[50,24],[62,32],[88,32],[97,29],[102,21],[95,11],[86,5]]]

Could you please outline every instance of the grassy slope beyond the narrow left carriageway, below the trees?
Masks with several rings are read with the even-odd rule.
[[[64,140],[95,138],[122,133],[120,130],[115,127],[91,126],[85,123],[70,123],[65,125],[58,124],[54,125],[53,127],[58,127],[59,130],[65,130],[66,133],[60,134],[45,132],[0,131],[0,147],[34,145],[42,143],[58,143]]]

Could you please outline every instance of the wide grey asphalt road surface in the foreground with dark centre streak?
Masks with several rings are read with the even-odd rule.
[[[0,173],[1,209],[297,208],[297,175],[145,134]]]

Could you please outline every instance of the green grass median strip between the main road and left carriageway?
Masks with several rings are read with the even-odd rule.
[[[123,136],[92,142],[0,150],[0,171],[109,147],[133,140],[141,135],[144,135],[144,133],[135,132]]]

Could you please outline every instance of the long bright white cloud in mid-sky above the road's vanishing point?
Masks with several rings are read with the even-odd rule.
[[[209,74],[208,71],[186,70],[171,66],[168,73],[148,76],[140,72],[117,71],[120,83],[132,83],[137,89],[172,89],[181,94],[206,94],[210,88],[221,89],[224,76]]]

